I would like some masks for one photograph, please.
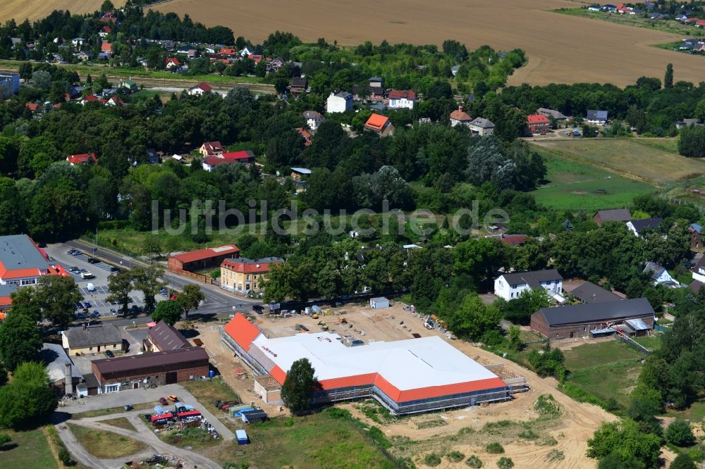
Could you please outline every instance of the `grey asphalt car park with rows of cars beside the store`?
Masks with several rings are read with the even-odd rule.
[[[108,277],[114,267],[103,262],[90,263],[90,255],[86,253],[72,255],[68,253],[69,250],[71,248],[65,244],[49,244],[46,248],[47,254],[71,273],[73,280],[78,284],[80,293],[83,295],[84,301],[82,301],[82,305],[76,305],[76,318],[84,319],[87,316],[97,318],[116,315],[120,305],[106,300],[110,295]],[[78,271],[71,272],[70,269],[72,268],[73,270],[78,269]],[[82,278],[80,270],[92,273],[93,277]],[[93,286],[91,290],[88,289],[89,284]],[[86,303],[90,306],[87,306]],[[137,308],[141,309],[144,305],[145,301],[142,292],[137,292],[136,290],[130,292],[130,307],[137,306]],[[85,311],[84,308],[88,310],[87,315],[83,312]]]

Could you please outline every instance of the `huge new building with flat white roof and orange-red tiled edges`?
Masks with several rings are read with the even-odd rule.
[[[269,339],[238,313],[221,338],[255,375],[280,385],[307,358],[320,384],[312,404],[372,397],[399,415],[506,401],[527,389],[523,377],[503,380],[438,336],[356,347],[329,332]]]

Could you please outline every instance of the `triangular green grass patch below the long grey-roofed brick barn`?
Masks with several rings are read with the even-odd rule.
[[[642,365],[638,361],[608,363],[577,370],[570,376],[570,382],[603,401],[614,398],[626,406],[641,371]]]

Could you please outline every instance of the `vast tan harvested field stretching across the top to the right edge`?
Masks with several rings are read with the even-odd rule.
[[[682,39],[677,35],[548,11],[577,5],[580,2],[567,0],[360,0],[355,4],[262,0],[257,8],[235,8],[231,0],[172,0],[153,8],[188,13],[207,25],[226,25],[235,37],[252,42],[282,30],[306,42],[325,37],[343,45],[382,39],[441,44],[444,39],[457,39],[473,49],[483,44],[499,50],[525,49],[529,64],[510,78],[513,85],[611,82],[624,86],[642,75],[663,77],[669,62],[676,80],[702,80],[704,58],[651,46]]]

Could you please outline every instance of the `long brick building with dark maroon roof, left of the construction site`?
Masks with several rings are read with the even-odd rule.
[[[208,375],[208,354],[200,347],[186,347],[142,355],[103,358],[91,363],[102,392],[173,384]]]

